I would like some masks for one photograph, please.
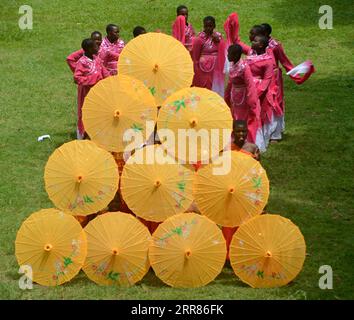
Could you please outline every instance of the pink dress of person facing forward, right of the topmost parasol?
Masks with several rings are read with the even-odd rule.
[[[192,56],[194,62],[193,86],[213,90],[224,96],[225,41],[216,32],[216,43],[205,32],[194,39]]]

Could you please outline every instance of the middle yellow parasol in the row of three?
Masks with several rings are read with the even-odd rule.
[[[159,145],[137,150],[124,166],[121,192],[139,217],[160,222],[191,205],[193,172],[164,153]]]

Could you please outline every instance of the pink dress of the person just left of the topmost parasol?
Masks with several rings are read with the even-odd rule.
[[[116,42],[112,43],[105,37],[102,40],[100,50],[99,50],[99,57],[103,61],[104,67],[108,70],[110,75],[116,75],[117,65],[119,55],[122,52],[125,43],[122,39],[118,39]]]

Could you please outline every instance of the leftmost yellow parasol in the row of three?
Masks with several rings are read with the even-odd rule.
[[[45,167],[45,188],[61,210],[88,215],[105,208],[118,189],[113,156],[88,140],[56,149]]]

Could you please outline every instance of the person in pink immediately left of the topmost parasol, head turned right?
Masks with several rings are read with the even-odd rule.
[[[116,75],[118,74],[117,65],[119,55],[125,43],[122,39],[119,39],[119,27],[117,25],[109,24],[106,27],[106,33],[107,36],[101,43],[99,56],[110,75]]]

